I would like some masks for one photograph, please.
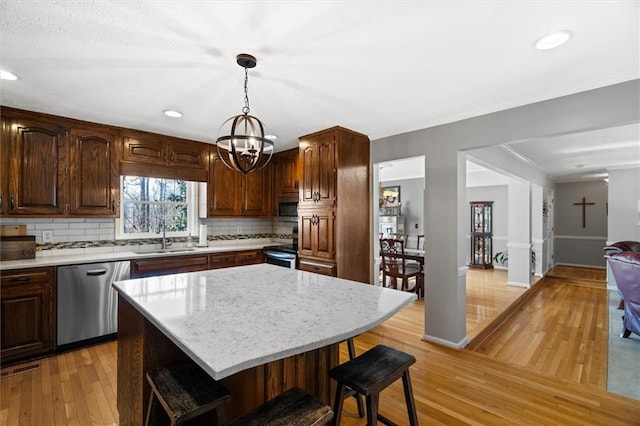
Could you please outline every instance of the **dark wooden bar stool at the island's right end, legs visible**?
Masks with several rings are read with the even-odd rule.
[[[378,345],[355,359],[332,368],[329,377],[338,382],[332,425],[340,424],[346,388],[366,397],[368,426],[376,426],[378,420],[386,425],[394,425],[391,420],[378,414],[378,403],[380,392],[402,377],[409,424],[417,426],[418,415],[409,376],[409,367],[415,362],[416,358],[413,355]]]

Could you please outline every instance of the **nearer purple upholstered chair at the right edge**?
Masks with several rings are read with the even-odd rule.
[[[621,337],[640,336],[640,253],[623,251],[609,257],[611,271],[624,299]]]

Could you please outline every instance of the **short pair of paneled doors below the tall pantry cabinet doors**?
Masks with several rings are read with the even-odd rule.
[[[321,260],[335,259],[335,213],[333,209],[298,212],[298,252]]]

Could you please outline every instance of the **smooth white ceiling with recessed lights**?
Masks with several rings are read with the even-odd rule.
[[[277,151],[334,125],[375,140],[639,78],[639,4],[0,0],[0,65],[20,76],[0,102],[211,143],[243,106],[247,52]],[[566,45],[533,47],[562,29]],[[640,164],[637,129],[511,147],[561,179],[593,159]]]

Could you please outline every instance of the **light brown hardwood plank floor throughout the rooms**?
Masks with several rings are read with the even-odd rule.
[[[504,304],[523,296],[522,289],[500,286],[506,281],[503,272],[482,277],[469,273],[467,326],[475,328],[476,335],[477,328],[500,316]],[[474,290],[473,281],[479,288]],[[606,305],[606,294],[602,296],[606,291],[562,285],[556,278],[537,288],[474,351],[422,341],[422,300],[356,338],[356,351],[383,343],[416,357],[411,379],[422,425],[640,424],[640,401],[604,390],[606,346],[602,350],[599,342],[604,338],[606,345],[608,316],[599,299]],[[346,346],[341,350],[346,359]],[[0,424],[117,424],[115,342],[36,363],[37,369],[0,380]],[[382,393],[380,411],[400,425],[407,424],[400,382]],[[366,424],[356,413],[353,399],[345,401],[342,424]]]

